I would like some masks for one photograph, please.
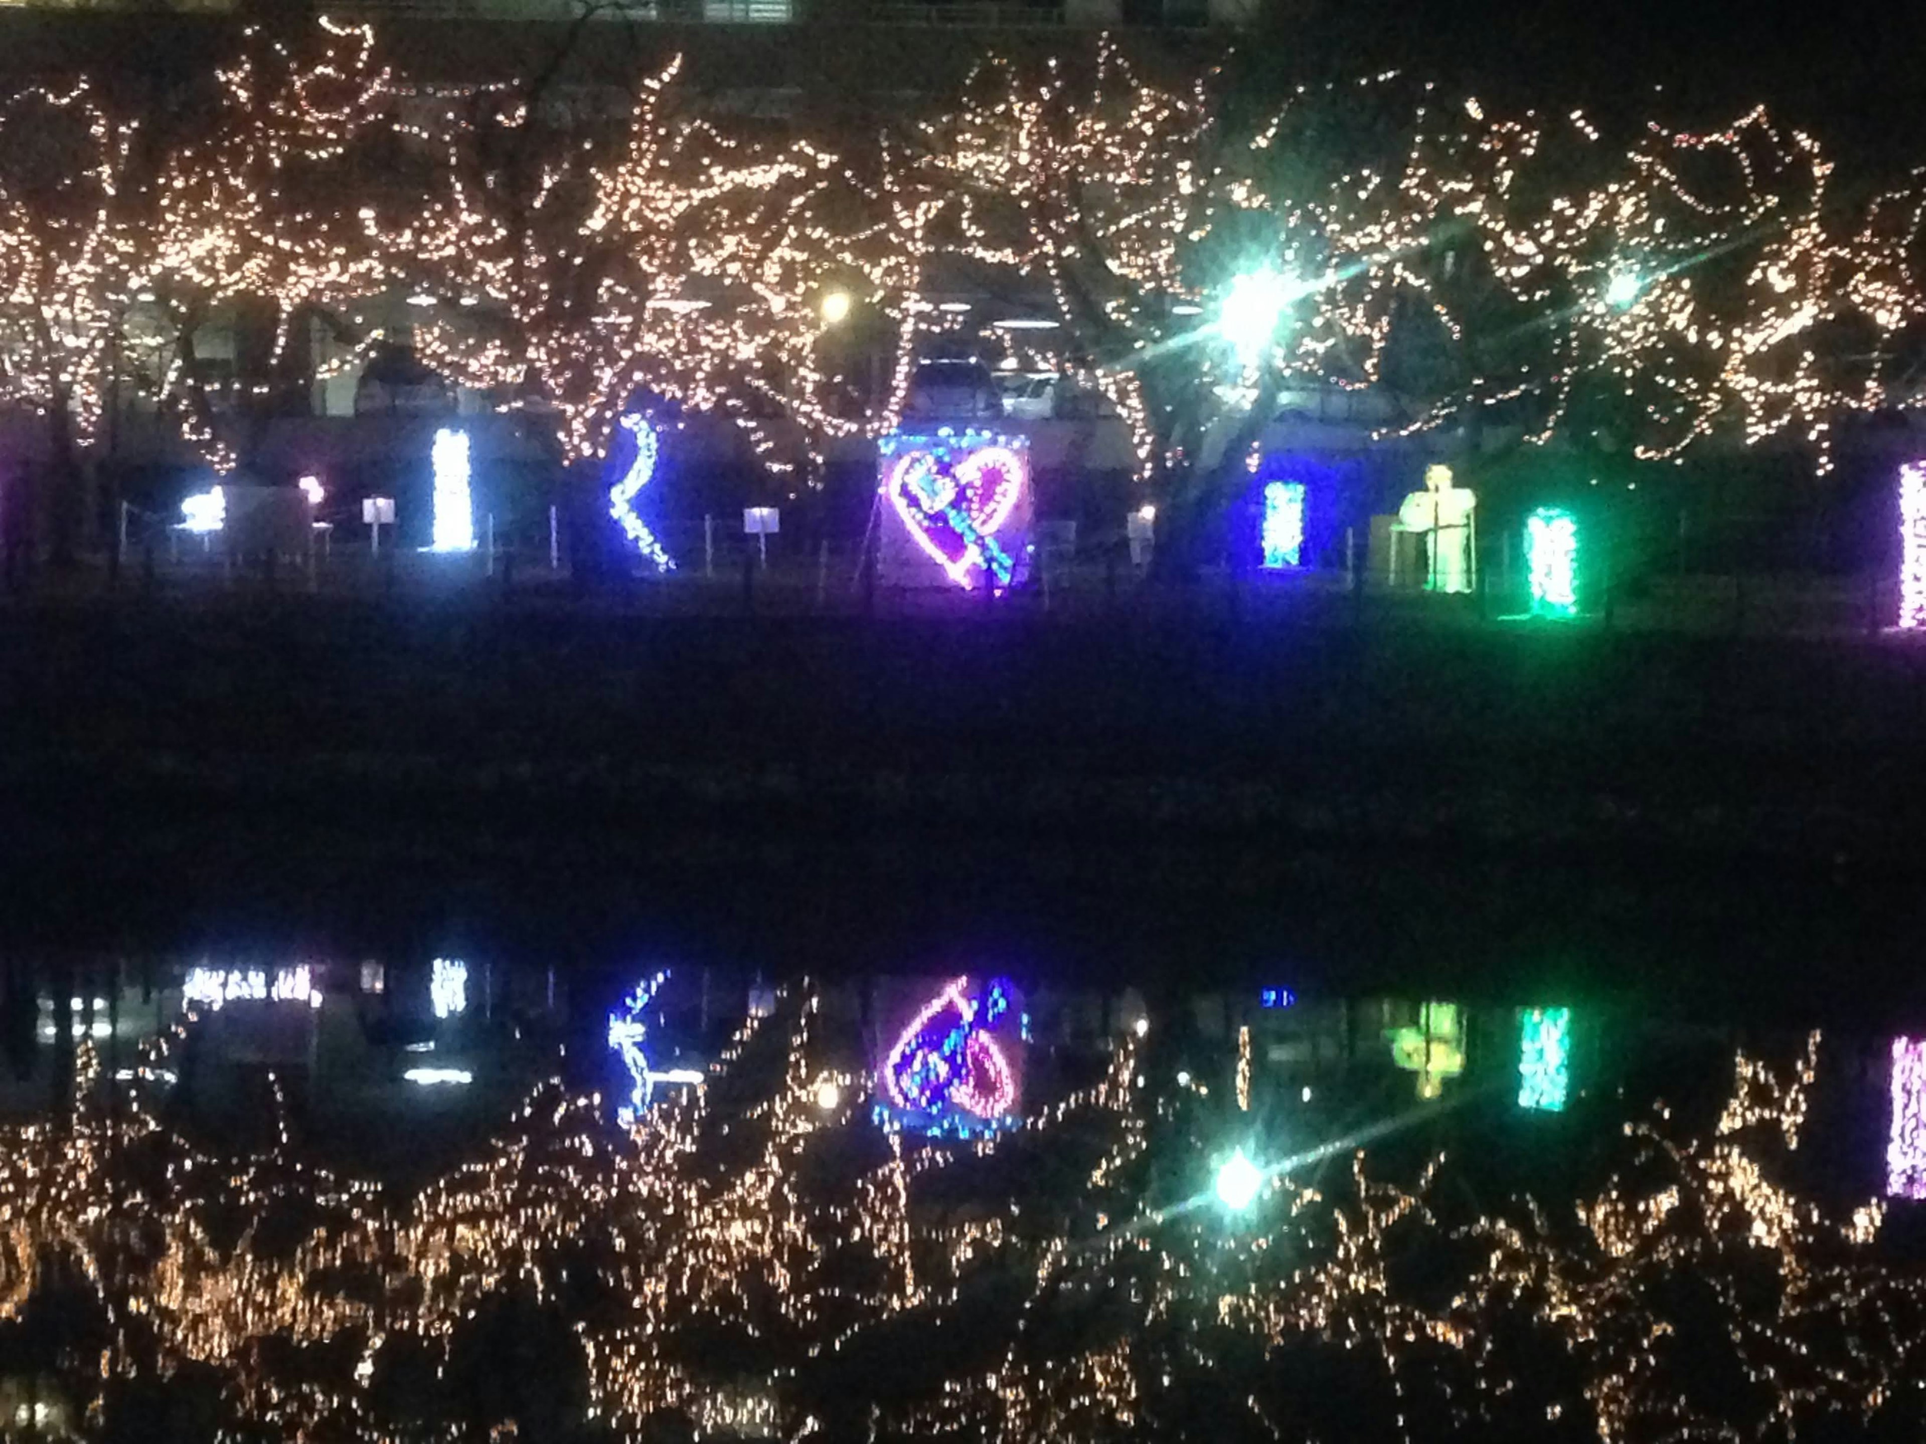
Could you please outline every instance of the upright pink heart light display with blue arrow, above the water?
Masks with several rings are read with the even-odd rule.
[[[882,439],[882,495],[924,556],[959,587],[1007,587],[1019,549],[998,541],[1027,501],[1028,437],[948,425]]]

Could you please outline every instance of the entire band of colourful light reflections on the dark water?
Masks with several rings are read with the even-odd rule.
[[[0,1338],[92,1321],[0,1348],[39,1432],[191,1379],[370,1440],[1920,1436],[1905,1040],[474,957],[35,988]]]

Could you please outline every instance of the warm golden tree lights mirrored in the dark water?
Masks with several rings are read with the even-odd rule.
[[[988,990],[953,986],[961,1007],[988,1009]],[[950,988],[942,1001],[961,1013]],[[254,1157],[173,1132],[146,1078],[164,1076],[193,1019],[112,1097],[81,1044],[71,1115],[0,1124],[0,1321],[19,1321],[35,1280],[58,1273],[96,1294],[108,1373],[193,1367],[218,1384],[221,1438],[343,1444],[393,1438],[381,1398],[397,1357],[439,1377],[491,1300],[526,1288],[566,1315],[587,1419],[611,1436],[680,1411],[684,1432],[794,1440],[872,1425],[878,1438],[1005,1444],[1444,1444],[1539,1438],[1547,1419],[1601,1444],[1764,1440],[1851,1427],[1911,1400],[1920,1377],[1926,1286],[1868,1253],[1882,1205],[1837,1217],[1772,1182],[1807,1119],[1816,1040],[1789,1072],[1741,1055],[1708,1136],[1674,1134],[1662,1109],[1614,1130],[1629,1157],[1604,1159],[1618,1171],[1572,1199],[1574,1228],[1531,1199],[1444,1221],[1433,1199],[1462,1215],[1468,1190],[1443,1155],[1410,1188],[1371,1176],[1348,1146],[1352,1167],[1315,1186],[1248,1151],[1225,1165],[1221,1113],[1146,1086],[1129,1028],[1106,1040],[1090,1086],[994,1136],[863,1142],[861,1111],[819,1105],[836,1074],[817,1019],[815,995],[780,995],[720,1051],[722,1086],[657,1101],[649,1128],[612,1132],[593,1096],[549,1082],[478,1157],[412,1196],[302,1159],[285,1126]],[[917,1032],[940,1047],[942,1022]],[[830,1130],[863,1147],[819,1146]],[[125,1186],[116,1169],[135,1155],[164,1188]],[[1000,1167],[973,1167],[992,1157]],[[1236,1225],[1154,1207],[1173,1171],[1210,1178],[1198,1201],[1242,1209]],[[1061,1186],[1036,1209],[1046,1174]],[[270,1213],[312,1223],[272,1248],[252,1228],[235,1236],[231,1221]],[[1452,1288],[1410,1286],[1429,1248],[1460,1261]],[[1689,1298],[1676,1286],[1687,1273]],[[980,1321],[986,1284],[1034,1327],[1007,1344],[978,1332],[986,1348],[967,1361],[932,1348],[928,1388],[871,1396],[865,1359],[944,1344]],[[620,1307],[580,1307],[593,1298]],[[1092,1307],[1104,1321],[1079,1325]],[[1052,1348],[1038,1350],[1046,1325]],[[776,1348],[690,1348],[730,1336]],[[1743,1417],[1726,1411],[1731,1390],[1697,1386],[1706,1350]],[[339,1367],[312,1369],[324,1355]],[[1545,1369],[1549,1355],[1560,1367]],[[1350,1392],[1329,1427],[1302,1413],[1275,1427],[1277,1369],[1325,1361],[1358,1398],[1383,1400],[1381,1429],[1342,1431]],[[100,1367],[87,1357],[69,1382],[96,1390]],[[1878,1436],[1913,1438],[1909,1419],[1880,1419]]]

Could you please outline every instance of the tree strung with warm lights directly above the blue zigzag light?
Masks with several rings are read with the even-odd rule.
[[[772,408],[811,437],[886,429],[886,406],[851,414],[822,298],[890,295],[921,214],[819,146],[724,133],[678,62],[618,123],[587,125],[551,114],[553,69],[451,112],[445,191],[383,233],[437,300],[426,354],[553,414],[570,458],[601,454],[638,399],[738,418],[772,468],[797,464],[774,454]],[[907,323],[896,335],[907,352]]]

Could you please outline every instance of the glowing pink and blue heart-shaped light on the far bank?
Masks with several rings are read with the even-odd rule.
[[[882,489],[909,535],[951,581],[973,587],[975,572],[988,572],[992,585],[1007,585],[1013,562],[996,533],[1028,479],[1028,464],[1013,447],[973,447],[953,458],[942,447],[919,447],[892,460]]]

